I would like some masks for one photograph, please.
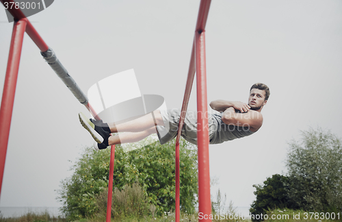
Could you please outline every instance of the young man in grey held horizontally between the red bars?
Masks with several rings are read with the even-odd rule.
[[[263,124],[261,110],[266,105],[269,95],[269,88],[265,84],[257,83],[250,88],[248,104],[239,101],[212,101],[209,106],[220,113],[208,116],[210,144],[223,143],[257,132]],[[155,110],[138,119],[115,125],[89,120],[84,114],[79,113],[79,121],[96,140],[95,149],[105,149],[109,145],[120,143],[134,143],[150,134],[157,134],[163,145],[176,137],[180,114],[181,110],[177,109]],[[110,134],[117,132],[124,133],[120,136]],[[187,112],[185,115],[181,135],[190,143],[197,143],[196,112]]]

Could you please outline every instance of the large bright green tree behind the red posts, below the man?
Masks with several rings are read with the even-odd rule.
[[[153,143],[124,153],[116,146],[114,190],[137,182],[148,201],[161,214],[174,208],[174,142]],[[180,141],[181,210],[194,212],[197,193],[197,153],[194,145]],[[108,186],[110,149],[86,148],[73,166],[73,175],[61,182],[58,190],[62,210],[69,219],[90,217],[98,212],[96,197]]]

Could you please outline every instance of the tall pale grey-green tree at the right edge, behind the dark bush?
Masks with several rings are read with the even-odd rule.
[[[303,210],[342,210],[342,146],[321,128],[289,143],[289,195]]]

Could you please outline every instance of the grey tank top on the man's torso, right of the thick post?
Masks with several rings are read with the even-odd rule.
[[[222,114],[209,115],[209,139],[210,144],[223,143],[236,138],[250,136],[254,132],[250,131],[250,127],[239,127],[235,125],[227,125],[222,121]]]

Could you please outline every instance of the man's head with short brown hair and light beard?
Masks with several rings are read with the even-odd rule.
[[[250,88],[250,97],[248,98],[248,105],[251,110],[261,111],[266,105],[269,98],[269,88],[265,84],[257,83]]]

